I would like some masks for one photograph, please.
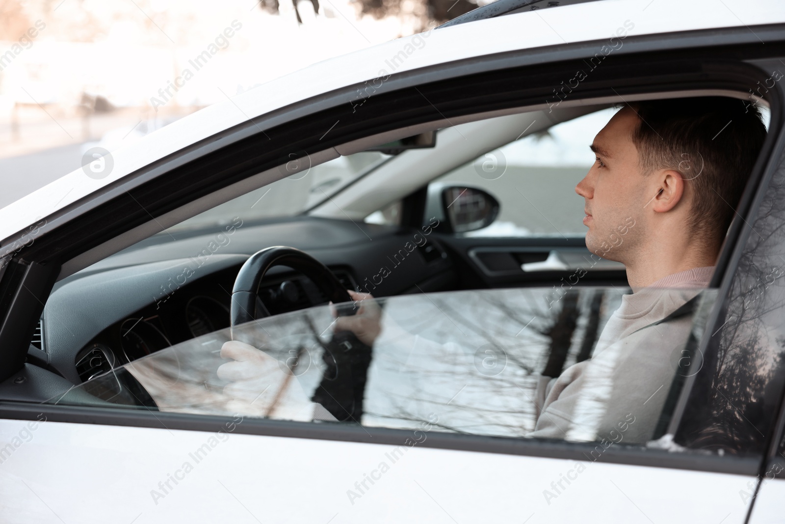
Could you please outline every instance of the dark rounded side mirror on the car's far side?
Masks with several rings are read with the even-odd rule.
[[[451,233],[482,229],[498,217],[498,200],[482,189],[458,185],[446,187],[441,193],[442,209]]]

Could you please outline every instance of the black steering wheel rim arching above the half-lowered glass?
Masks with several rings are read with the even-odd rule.
[[[253,321],[257,318],[269,317],[270,312],[261,301],[257,302],[256,292],[265,274],[274,266],[287,266],[309,277],[319,291],[334,304],[352,302],[349,293],[338,281],[338,278],[305,251],[294,247],[273,246],[257,251],[246,260],[240,268],[232,289],[231,322],[232,328]],[[341,307],[341,316],[356,313],[356,306]]]

